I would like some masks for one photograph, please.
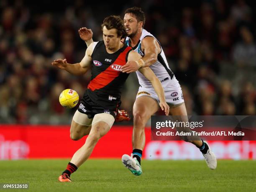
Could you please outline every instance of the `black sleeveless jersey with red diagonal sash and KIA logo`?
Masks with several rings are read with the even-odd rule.
[[[115,53],[109,54],[104,41],[97,43],[92,52],[92,78],[86,91],[92,102],[117,110],[121,103],[121,89],[129,75],[121,72],[120,68],[126,64],[131,50],[131,47],[124,45]]]

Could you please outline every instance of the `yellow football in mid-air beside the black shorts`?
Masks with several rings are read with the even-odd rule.
[[[64,108],[74,108],[79,102],[79,95],[72,89],[67,89],[61,92],[59,95],[59,103]]]

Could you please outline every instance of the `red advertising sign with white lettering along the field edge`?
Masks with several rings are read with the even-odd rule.
[[[132,127],[114,126],[100,139],[91,158],[121,158],[130,154]],[[85,142],[69,138],[64,125],[0,125],[0,159],[71,158]],[[218,159],[256,159],[256,141],[209,141]],[[111,150],[115,148],[115,150]],[[146,129],[145,159],[202,159],[193,144],[184,141],[151,141]]]

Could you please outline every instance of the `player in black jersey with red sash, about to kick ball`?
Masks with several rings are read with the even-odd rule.
[[[75,152],[67,169],[59,176],[60,182],[71,182],[70,174],[86,161],[97,141],[110,130],[120,106],[121,88],[128,74],[121,72],[127,61],[138,61],[141,56],[125,46],[121,37],[126,34],[123,20],[119,16],[109,16],[102,24],[103,40],[91,44],[80,63],[68,64],[66,59],[57,59],[52,65],[65,69],[75,75],[85,74],[89,68],[92,78],[74,114],[70,137],[79,140],[88,135],[84,145]],[[148,67],[139,71],[152,83],[160,99],[160,106],[169,113],[169,106],[164,97],[164,90],[159,79]]]

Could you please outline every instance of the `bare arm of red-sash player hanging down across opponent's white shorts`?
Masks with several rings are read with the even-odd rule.
[[[141,55],[135,51],[131,51],[128,55],[128,61],[138,61],[139,59],[141,59]],[[141,72],[151,82],[154,90],[156,91],[156,94],[159,97],[159,105],[161,109],[164,110],[166,115],[169,115],[169,105],[166,103],[164,89],[159,79],[149,67],[142,67],[139,69],[139,72]]]

